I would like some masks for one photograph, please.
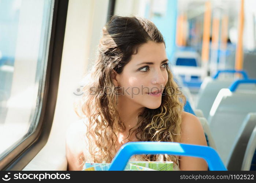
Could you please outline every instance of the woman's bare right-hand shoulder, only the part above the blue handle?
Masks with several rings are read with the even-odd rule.
[[[181,143],[207,146],[203,126],[199,119],[188,112],[182,112],[181,118]]]

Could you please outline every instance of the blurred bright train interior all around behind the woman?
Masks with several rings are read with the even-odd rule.
[[[112,15],[151,20],[227,170],[256,170],[255,0],[0,0],[0,169],[67,170],[83,76]]]

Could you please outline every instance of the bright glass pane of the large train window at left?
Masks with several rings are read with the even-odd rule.
[[[53,5],[54,0],[0,1],[0,160],[38,126]]]

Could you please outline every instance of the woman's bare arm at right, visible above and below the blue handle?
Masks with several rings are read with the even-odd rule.
[[[200,121],[188,112],[182,113],[181,143],[207,146]],[[179,168],[181,170],[207,170],[208,165],[203,158],[181,156]]]

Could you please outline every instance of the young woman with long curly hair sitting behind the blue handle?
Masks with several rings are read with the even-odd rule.
[[[68,128],[68,170],[84,163],[111,163],[132,141],[207,146],[196,116],[184,112],[185,97],[174,82],[157,27],[149,20],[113,16],[103,28],[99,57],[83,88],[81,120]],[[79,111],[79,108],[77,108]],[[134,160],[173,161],[177,170],[207,170],[201,158],[167,154]]]

